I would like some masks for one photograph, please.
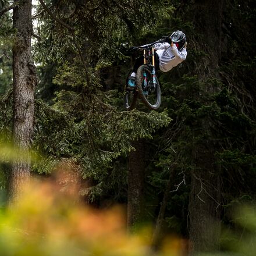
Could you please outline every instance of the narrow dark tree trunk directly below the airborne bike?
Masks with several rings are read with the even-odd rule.
[[[145,162],[143,141],[134,141],[132,145],[136,151],[129,155],[127,225],[134,231],[143,211]]]

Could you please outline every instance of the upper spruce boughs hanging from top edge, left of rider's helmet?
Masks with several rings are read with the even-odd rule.
[[[161,18],[169,13],[169,8],[165,8],[162,2],[164,1],[53,2],[51,11],[58,13],[63,22],[74,27],[75,33],[70,34],[70,31],[47,14],[41,16],[42,40],[36,48],[38,59],[40,62],[47,58],[59,61],[61,56],[76,49],[73,40],[83,49],[89,65],[109,63],[109,60],[118,56],[122,58],[120,47],[127,44],[127,39],[131,43],[138,31],[151,29],[157,16]],[[62,15],[66,13],[66,9],[72,10],[69,17]],[[41,45],[44,45],[48,54],[39,51]]]

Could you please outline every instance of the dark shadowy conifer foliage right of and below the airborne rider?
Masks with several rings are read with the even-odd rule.
[[[178,1],[176,6],[179,7]],[[239,51],[235,42],[230,40],[229,51],[233,51],[233,58],[229,54],[229,60],[225,62],[223,58],[224,63],[219,64],[220,69],[212,70],[208,65],[211,61],[206,61],[209,49],[205,51],[205,34],[198,34],[193,23],[184,25],[189,20],[185,15],[186,8],[189,10],[190,6],[182,6],[180,16],[178,15],[183,20],[171,19],[163,22],[167,28],[171,27],[170,24],[174,27],[179,24],[177,29],[186,33],[188,57],[179,67],[159,76],[162,107],[168,109],[173,122],[161,131],[161,135],[154,137],[157,145],[151,150],[155,152],[154,165],[157,162],[158,168],[150,165],[154,172],[149,179],[155,188],[153,191],[157,190],[160,195],[165,191],[170,170],[176,173],[173,186],[180,184],[183,177],[186,184],[189,184],[191,171],[199,168],[195,162],[201,158],[211,161],[207,158],[209,155],[202,154],[201,149],[205,148],[205,152],[215,152],[215,155],[210,156],[215,158],[216,172],[219,173],[221,169],[225,204],[243,194],[255,193],[256,130],[255,102],[252,98],[255,94],[255,61],[251,57],[241,61],[241,48]],[[252,41],[250,40],[251,43]],[[248,49],[243,50],[245,53]],[[179,191],[175,192],[182,196],[182,202],[173,201],[169,195],[170,205],[166,209],[168,218],[165,221],[169,222],[170,229],[184,235],[187,234],[189,189],[182,183]],[[151,196],[154,196],[154,192]],[[160,203],[161,199],[157,202]]]

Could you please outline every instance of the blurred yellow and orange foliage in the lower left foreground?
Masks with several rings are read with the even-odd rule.
[[[151,255],[150,229],[127,234],[122,207],[80,204],[75,183],[61,189],[63,178],[31,179],[19,200],[1,209],[0,255]],[[172,238],[154,255],[179,255],[181,249],[182,240]]]

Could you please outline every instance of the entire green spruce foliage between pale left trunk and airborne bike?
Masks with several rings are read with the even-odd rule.
[[[48,173],[56,159],[74,159],[84,179],[95,180],[91,191],[98,195],[104,188],[108,191],[116,186],[116,180],[108,177],[118,168],[122,170],[120,183],[126,184],[121,180],[127,168],[123,163],[117,167],[116,161],[134,150],[130,142],[151,139],[156,130],[170,122],[167,112],[123,112],[117,108],[122,101],[120,83],[118,90],[105,91],[102,68],[109,68],[117,59],[121,64],[126,61],[123,50],[138,34],[154,29],[156,18],[169,17],[172,7],[166,1],[49,1],[47,5],[75,30],[68,30],[39,6],[41,40],[35,45],[35,59],[41,63],[41,81],[46,83],[40,83],[38,96],[51,88],[55,99],[52,107],[41,101],[35,106],[34,148],[46,160],[34,165],[34,170]],[[45,66],[48,63],[55,65],[54,72]],[[123,83],[125,77],[121,80]]]

